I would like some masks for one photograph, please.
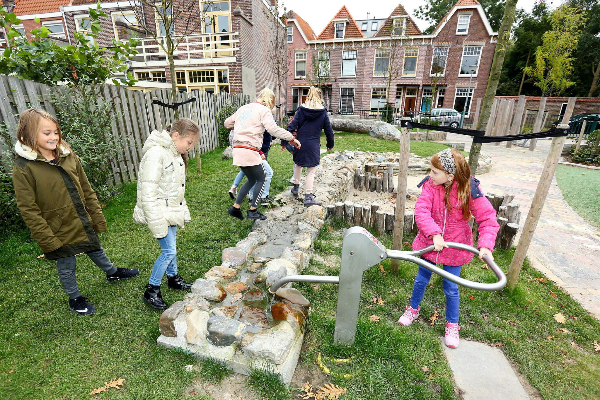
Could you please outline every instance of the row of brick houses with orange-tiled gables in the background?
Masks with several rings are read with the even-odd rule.
[[[303,34],[308,24],[292,20],[288,19],[293,37],[288,44],[288,109],[302,104],[301,94],[310,87],[307,74],[323,72],[329,73],[323,86],[334,113],[362,110],[374,115],[385,103],[394,104],[400,113],[425,111],[431,104],[474,112],[471,99],[484,96],[497,32],[476,0],[459,0],[430,35],[422,34],[400,4],[373,37],[365,37],[346,7],[316,40]],[[476,66],[473,74],[470,66]],[[394,78],[388,88],[389,69]]]

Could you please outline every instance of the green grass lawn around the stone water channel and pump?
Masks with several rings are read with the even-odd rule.
[[[395,152],[398,148],[398,143],[368,135],[336,133],[335,136],[336,149],[341,150],[356,146],[365,151]],[[423,142],[411,145],[411,151],[423,156],[446,147]],[[225,214],[232,203],[227,190],[238,169],[230,160],[221,160],[221,151],[202,155],[200,174],[195,173],[191,163],[186,197],[192,222],[178,231],[179,273],[187,281],[203,277],[206,270],[220,264],[221,250],[235,245],[251,229],[251,222]],[[292,161],[289,153],[273,148],[269,163],[276,172],[271,186],[274,196],[289,185]],[[109,231],[101,233],[100,239],[116,266],[139,268],[140,276],[109,284],[88,257],[77,256],[80,290],[97,307],[97,312],[89,317],[68,310],[67,296],[56,277],[55,262],[37,258],[41,251],[28,231],[0,238],[1,399],[88,399],[89,392],[112,378],[126,379],[122,389],[110,389],[95,398],[179,399],[194,378],[209,370],[186,372],[184,365],[196,362],[195,359],[156,345],[160,311],[146,306],[140,297],[160,248],[148,228],[133,221],[136,185],[125,185],[122,190],[121,196],[105,209]],[[334,246],[339,240],[340,236],[325,228],[317,248],[323,254],[340,254],[340,248]],[[383,240],[389,245],[389,237]],[[508,266],[510,253],[499,257],[503,257],[499,264]],[[479,276],[484,281],[492,278],[491,272],[482,270],[475,261],[472,264],[466,268],[467,277]],[[320,269],[337,275],[339,265],[331,268],[313,262],[309,267],[313,272]],[[332,381],[349,389],[346,398],[400,399],[409,398],[407,393],[423,399],[454,396],[451,374],[437,339],[443,333],[443,325],[415,324],[400,329],[395,324],[406,305],[415,273],[416,266],[412,265],[404,266],[398,275],[384,276],[376,268],[365,272],[361,318],[357,341],[352,347],[332,345],[331,312],[335,311],[337,289],[333,285],[320,285],[316,291],[311,285],[299,285],[315,308],[307,332],[307,340],[314,348],[302,357],[310,360],[316,351],[326,356],[352,356],[352,379],[332,375]],[[600,324],[551,282],[540,284],[530,275],[541,276],[526,267],[512,294],[461,289],[460,323],[464,325],[461,335],[502,342],[506,354],[520,363],[521,372],[545,398],[598,398],[600,362],[591,343],[600,340]],[[441,279],[432,279],[432,284],[422,303],[426,317],[433,314],[434,308],[442,311],[445,304]],[[559,297],[552,297],[550,291]],[[166,285],[163,293],[169,303],[183,295]],[[467,294],[475,299],[466,300]],[[367,309],[371,297],[376,296],[383,297],[385,304]],[[552,319],[554,312],[567,315],[565,325]],[[370,314],[380,315],[382,320],[370,323],[365,318]],[[443,311],[440,314],[443,316]],[[557,332],[559,328],[569,332]],[[553,337],[547,339],[548,335]],[[585,351],[571,347],[571,341]],[[562,363],[567,359],[571,362]],[[421,371],[422,365],[433,371],[433,379],[427,379]],[[263,383],[257,381],[255,386],[259,385]]]

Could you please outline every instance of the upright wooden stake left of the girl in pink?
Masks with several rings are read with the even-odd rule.
[[[403,121],[410,118],[403,117]],[[396,195],[396,218],[394,219],[394,240],[392,248],[394,250],[402,249],[402,240],[404,233],[404,207],[406,204],[406,185],[409,175],[409,154],[410,154],[410,130],[409,128],[400,128],[400,159],[398,163],[398,191]],[[392,271],[400,270],[400,261],[392,260]]]

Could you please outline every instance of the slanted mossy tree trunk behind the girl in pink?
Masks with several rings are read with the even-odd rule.
[[[477,124],[477,129],[479,131],[485,131],[488,120],[490,119],[491,106],[494,102],[494,97],[496,97],[496,89],[498,88],[502,64],[504,63],[504,56],[506,55],[506,45],[511,37],[511,27],[515,20],[516,7],[517,0],[506,1],[504,16],[502,17],[502,23],[500,23],[496,50],[494,51],[494,60],[491,63],[490,78],[488,79],[488,85],[485,89],[484,104],[481,108],[481,118],[479,118]],[[477,163],[479,161],[480,152],[481,143],[473,143],[471,145],[471,150],[469,151],[469,166],[471,167],[472,175],[476,175],[477,173]]]

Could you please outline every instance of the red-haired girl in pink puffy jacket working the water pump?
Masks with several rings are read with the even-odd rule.
[[[415,205],[415,222],[419,233],[413,241],[413,249],[421,249],[433,243],[434,251],[421,256],[431,264],[443,264],[443,269],[460,276],[463,264],[473,258],[473,253],[449,248],[445,241],[473,245],[469,220],[479,224],[479,258],[488,255],[496,243],[500,225],[496,222],[496,210],[479,190],[479,181],[471,176],[469,164],[455,149],[445,149],[431,157],[431,173],[418,185],[421,196]],[[431,278],[431,271],[419,266],[415,278],[410,305],[398,323],[409,326],[419,317],[419,303]],[[458,285],[443,279],[446,294],[446,345],[458,347]]]

